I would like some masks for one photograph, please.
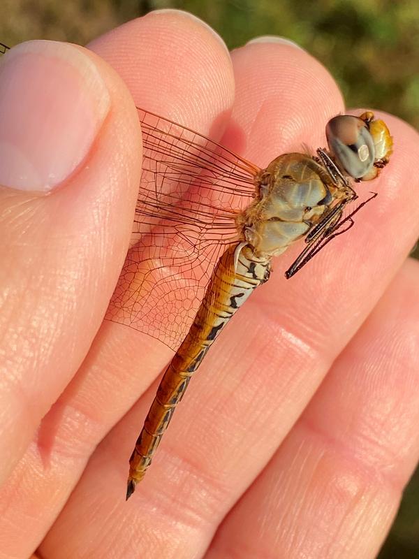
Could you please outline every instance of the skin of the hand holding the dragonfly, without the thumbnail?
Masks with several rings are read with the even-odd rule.
[[[230,58],[184,13],[152,13],[89,46],[138,106],[260,166],[325,145],[325,123],[344,110],[307,52],[262,41]],[[0,559],[374,558],[419,450],[419,265],[405,261],[418,237],[418,134],[383,115],[395,153],[359,187],[379,196],[293,279],[284,270],[300,247],[274,261],[126,503],[128,456],[172,352],[101,325],[128,246],[140,134],[124,82],[90,56],[112,110],[86,166],[47,197],[0,191],[0,292],[11,293],[0,318]],[[82,257],[63,259],[86,238]],[[40,266],[43,285],[22,291]],[[24,325],[44,293],[28,349]],[[56,315],[66,321],[52,335],[42,321]]]

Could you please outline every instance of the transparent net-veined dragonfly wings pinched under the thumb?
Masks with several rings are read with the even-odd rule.
[[[176,349],[260,169],[209,138],[138,109],[143,170],[131,247],[106,318]]]

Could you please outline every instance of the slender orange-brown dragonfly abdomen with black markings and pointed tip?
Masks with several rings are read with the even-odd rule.
[[[230,318],[258,285],[267,281],[270,259],[256,258],[245,243],[228,247],[214,268],[210,284],[189,333],[161,379],[130,458],[128,499],[152,462],[189,381]]]

